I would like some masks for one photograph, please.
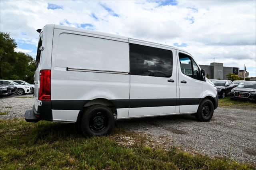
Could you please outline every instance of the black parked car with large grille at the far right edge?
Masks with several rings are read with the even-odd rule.
[[[256,102],[256,81],[242,81],[230,93],[230,99]]]

